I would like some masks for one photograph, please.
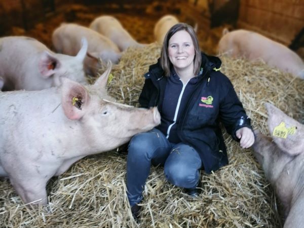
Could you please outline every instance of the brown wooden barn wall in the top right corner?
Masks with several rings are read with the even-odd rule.
[[[304,26],[302,0],[242,0],[237,26],[289,45]]]

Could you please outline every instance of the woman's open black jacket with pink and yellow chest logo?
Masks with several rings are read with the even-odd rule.
[[[196,89],[183,110],[178,136],[183,143],[193,146],[199,153],[206,173],[228,164],[226,147],[220,122],[232,137],[239,141],[235,132],[249,127],[242,103],[230,80],[218,69],[221,61],[214,56],[202,54],[203,74]],[[167,77],[160,63],[151,65],[145,74],[145,83],[139,96],[142,107],[158,106],[162,115]]]

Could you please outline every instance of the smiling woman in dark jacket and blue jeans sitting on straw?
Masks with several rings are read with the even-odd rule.
[[[243,148],[253,144],[250,119],[220,65],[200,52],[191,26],[178,23],[167,32],[139,96],[142,107],[158,106],[161,124],[135,135],[128,148],[127,195],[135,218],[151,164],[164,166],[169,182],[198,196],[200,170],[228,164],[219,122]]]

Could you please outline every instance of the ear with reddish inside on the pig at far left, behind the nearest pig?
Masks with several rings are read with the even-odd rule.
[[[39,60],[39,71],[43,78],[49,78],[55,73],[55,69],[60,66],[57,58],[52,56],[49,52],[44,51]]]

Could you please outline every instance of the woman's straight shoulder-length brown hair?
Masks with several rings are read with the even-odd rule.
[[[164,39],[162,51],[161,51],[161,67],[165,71],[165,75],[167,77],[169,77],[169,75],[170,75],[170,67],[172,65],[172,63],[170,62],[169,53],[168,53],[169,40],[172,37],[172,35],[174,35],[176,32],[178,32],[180,30],[185,30],[186,32],[189,33],[189,35],[192,38],[192,42],[193,42],[194,49],[195,49],[195,57],[193,60],[194,61],[194,72],[193,73],[194,73],[194,75],[198,75],[200,72],[202,56],[201,56],[198,37],[191,25],[188,25],[186,23],[178,23],[176,25],[173,25],[167,32],[165,39]]]

